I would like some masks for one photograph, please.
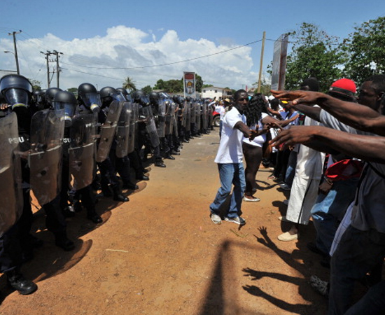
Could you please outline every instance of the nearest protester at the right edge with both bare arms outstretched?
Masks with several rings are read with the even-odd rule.
[[[318,104],[346,125],[384,136],[385,116],[374,109],[383,106],[385,76],[375,75],[361,85],[358,103],[335,99],[318,92],[277,92],[276,97],[290,99],[293,105]],[[295,143],[315,145],[314,139],[331,148],[361,158],[367,163],[353,203],[351,224],[344,231],[332,255],[328,314],[345,314],[351,304],[354,284],[385,258],[385,141],[383,137],[350,134],[321,126],[293,127],[273,140],[275,145]]]

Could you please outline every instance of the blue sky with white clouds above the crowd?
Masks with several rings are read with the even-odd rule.
[[[183,71],[238,90],[258,81],[264,31],[262,78],[269,80],[267,65],[281,34],[307,22],[347,38],[355,26],[384,16],[385,1],[1,0],[0,12],[0,69],[15,71],[9,34],[21,30],[20,74],[43,88],[44,54],[56,50],[63,90],[85,82],[121,87],[127,76],[138,88],[153,87],[159,79],[181,79]],[[56,64],[49,66],[56,87]]]

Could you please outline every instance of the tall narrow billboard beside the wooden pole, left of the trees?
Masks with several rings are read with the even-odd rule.
[[[288,34],[283,34],[274,42],[272,90],[284,90],[286,59],[288,55]]]

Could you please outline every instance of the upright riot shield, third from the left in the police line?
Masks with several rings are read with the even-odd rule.
[[[96,117],[94,114],[80,114],[72,118],[69,130],[69,179],[77,190],[92,183],[95,165]]]

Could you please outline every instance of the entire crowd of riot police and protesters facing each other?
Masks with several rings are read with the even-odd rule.
[[[316,239],[307,247],[321,255],[330,279],[310,282],[328,296],[328,314],[384,314],[385,76],[367,78],[357,97],[347,78],[332,83],[328,94],[318,90],[318,80],[307,78],[299,90],[269,97],[238,90],[232,102],[109,86],[98,91],[90,83],[75,95],[33,90],[23,76],[3,76],[0,186],[8,197],[0,205],[0,272],[21,294],[37,289],[20,272],[43,246],[31,233],[31,191],[55,244],[71,251],[66,217],[85,209],[88,220],[102,223],[99,197],[128,202],[125,191],[149,180],[144,162],[165,168],[164,159],[174,160],[183,144],[213,130],[215,111],[221,187],[209,206],[211,221],[246,224],[241,204],[260,201],[255,178],[261,164],[271,168],[267,179],[290,191],[279,220],[291,226],[279,241],[300,238],[301,225],[314,223]],[[370,290],[351,305],[354,283],[363,279]]]

